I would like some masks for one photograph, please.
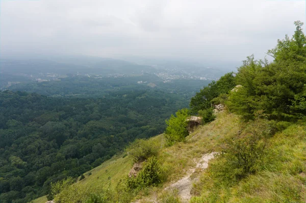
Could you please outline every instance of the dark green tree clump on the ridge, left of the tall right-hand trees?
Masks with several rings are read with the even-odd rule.
[[[234,73],[226,73],[218,81],[212,81],[191,98],[190,108],[192,113],[211,108],[212,100],[220,94],[226,94],[235,87]]]

